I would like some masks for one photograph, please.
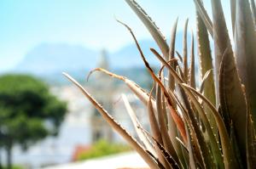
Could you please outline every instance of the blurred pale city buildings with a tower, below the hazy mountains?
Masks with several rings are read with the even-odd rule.
[[[97,58],[96,67],[111,70],[108,54],[105,50],[102,50]],[[40,66],[44,67],[42,63]],[[27,68],[29,68],[29,65],[26,66]],[[135,81],[138,81],[143,87],[150,87],[150,77],[148,76],[148,72],[143,68],[137,67],[135,70],[119,70],[119,72],[127,76],[135,75],[132,71],[137,72],[137,76],[133,76]],[[19,70],[20,72],[25,73],[26,70]],[[113,129],[108,126],[108,123],[102,119],[102,116],[93,105],[84,98],[84,95],[80,93],[78,88],[67,82],[64,76],[61,76],[61,72],[59,74],[56,73],[58,76],[55,76],[55,80],[53,80],[53,75],[49,78],[45,78],[46,76],[39,73],[36,75],[40,76],[45,82],[49,82],[51,93],[58,99],[67,102],[68,111],[61,124],[60,132],[56,137],[50,136],[45,138],[43,141],[32,145],[26,151],[21,149],[19,145],[15,145],[13,149],[13,161],[15,164],[26,166],[27,168],[40,168],[75,161],[75,155],[79,149],[88,149],[91,144],[100,139],[107,140],[109,143],[125,144],[124,140],[116,132],[113,132]],[[135,131],[126,113],[125,105],[120,98],[122,93],[127,96],[132,108],[136,110],[137,117],[143,126],[148,128],[148,119],[143,118],[146,116],[144,105],[124,84],[115,81],[109,76],[103,75],[101,72],[95,72],[95,74],[91,75],[89,82],[85,82],[86,72],[84,72],[83,76],[79,76],[79,73],[75,76],[132,135],[135,136]],[[61,78],[63,79],[59,80]],[[1,152],[1,156],[4,161],[6,157],[3,152]]]

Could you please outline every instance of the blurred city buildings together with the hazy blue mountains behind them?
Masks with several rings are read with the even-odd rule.
[[[177,33],[177,42],[182,44],[182,32]],[[156,48],[151,40],[140,41],[144,54],[153,68],[159,62],[148,48]],[[177,49],[181,49],[181,45]],[[101,67],[126,76],[141,87],[150,90],[152,79],[143,65],[137,48],[129,44],[116,53],[106,50],[94,51],[79,45],[40,44],[26,54],[26,57],[14,69],[3,74],[27,74],[36,76],[50,87],[58,99],[67,103],[67,115],[61,123],[56,137],[49,136],[24,150],[20,145],[13,148],[13,162],[25,168],[41,168],[67,164],[78,159],[81,152],[90,149],[96,141],[104,139],[108,143],[125,144],[123,138],[113,132],[92,104],[80,93],[79,89],[68,82],[62,71],[69,73],[98,100],[120,124],[136,137],[131,119],[121,99],[124,93],[143,127],[149,130],[145,106],[131,93],[123,82],[113,79],[102,72],[94,72],[88,82],[86,76],[90,70]],[[6,159],[1,151],[2,161]]]

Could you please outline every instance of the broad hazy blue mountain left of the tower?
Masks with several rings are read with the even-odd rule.
[[[15,71],[49,75],[62,71],[91,69],[96,64],[96,51],[79,45],[40,44],[33,48]]]

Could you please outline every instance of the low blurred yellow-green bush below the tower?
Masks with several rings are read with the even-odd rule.
[[[99,140],[92,147],[79,155],[79,161],[92,159],[96,157],[102,157],[105,155],[113,155],[131,150],[125,144],[112,144],[105,140]]]

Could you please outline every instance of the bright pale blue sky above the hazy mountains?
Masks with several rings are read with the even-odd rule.
[[[189,18],[190,27],[195,28],[193,0],[137,2],[166,36],[170,35],[177,16],[178,29],[183,29],[186,18]],[[208,2],[206,6],[210,9]],[[227,2],[223,1],[224,8],[229,8]],[[42,42],[116,51],[132,41],[114,17],[131,25],[138,39],[150,38],[124,0],[1,0],[0,71],[15,66],[29,50]]]

